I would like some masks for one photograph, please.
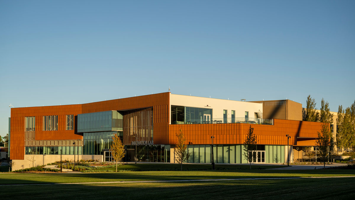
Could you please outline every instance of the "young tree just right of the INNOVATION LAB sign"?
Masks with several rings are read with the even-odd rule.
[[[175,145],[175,160],[180,163],[181,171],[182,171],[182,163],[187,162],[189,160],[190,152],[187,149],[187,145],[185,144],[186,138],[184,137],[184,133],[182,133],[181,129],[179,133],[176,133],[176,137],[178,140]]]

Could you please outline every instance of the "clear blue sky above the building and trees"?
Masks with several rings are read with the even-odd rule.
[[[355,100],[355,1],[0,1],[0,135],[15,107],[168,91]]]

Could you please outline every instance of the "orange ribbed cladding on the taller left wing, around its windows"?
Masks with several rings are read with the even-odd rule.
[[[75,133],[75,130],[65,130],[66,115],[153,107],[154,143],[168,143],[169,94],[159,93],[77,105],[12,108],[10,157],[13,160],[24,159],[24,117],[30,116],[35,116],[35,140],[70,140],[82,139],[82,135]],[[49,115],[58,115],[58,130],[43,130],[43,116]]]

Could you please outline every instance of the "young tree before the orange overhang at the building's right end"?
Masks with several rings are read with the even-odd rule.
[[[318,150],[320,152],[320,156],[324,162],[324,168],[326,168],[326,160],[329,156],[329,149],[331,146],[331,138],[333,137],[331,131],[329,130],[329,126],[326,123],[322,124],[321,132],[318,132],[318,138],[316,140],[316,144],[318,146]]]

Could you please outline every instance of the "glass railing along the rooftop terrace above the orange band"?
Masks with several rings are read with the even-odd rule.
[[[273,125],[274,120],[250,117],[236,118],[213,118],[213,119],[190,119],[185,121],[171,121],[171,124],[225,124],[225,123],[248,123]]]

